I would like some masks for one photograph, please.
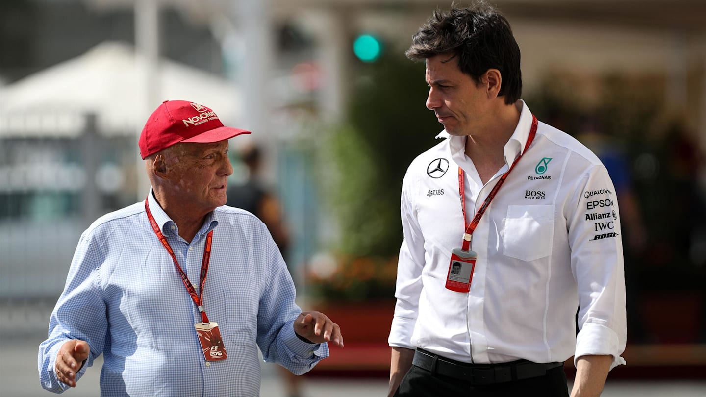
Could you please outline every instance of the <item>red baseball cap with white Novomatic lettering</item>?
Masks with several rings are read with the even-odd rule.
[[[186,100],[165,100],[140,134],[142,159],[179,142],[213,143],[250,131],[224,126],[212,109]]]

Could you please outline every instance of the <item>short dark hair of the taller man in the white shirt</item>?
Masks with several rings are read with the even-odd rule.
[[[508,20],[484,1],[467,8],[434,11],[412,37],[405,55],[414,61],[451,54],[459,69],[481,83],[488,69],[498,69],[502,83],[498,96],[510,105],[522,94],[520,47]],[[450,59],[449,59],[450,60]]]

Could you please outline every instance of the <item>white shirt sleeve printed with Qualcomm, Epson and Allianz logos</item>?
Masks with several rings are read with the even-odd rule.
[[[612,369],[626,363],[626,293],[620,212],[606,168],[588,170],[570,200],[568,239],[580,306],[574,364],[584,355],[611,355]],[[608,218],[594,222],[592,213]]]

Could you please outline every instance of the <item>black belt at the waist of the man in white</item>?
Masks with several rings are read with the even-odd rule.
[[[520,379],[542,377],[549,369],[561,367],[562,362],[539,364],[527,360],[502,362],[499,364],[469,364],[450,360],[424,349],[414,352],[412,365],[426,369],[432,375],[443,375],[466,381],[469,384],[496,384]]]

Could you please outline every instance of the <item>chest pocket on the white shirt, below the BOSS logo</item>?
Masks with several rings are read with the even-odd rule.
[[[503,230],[503,254],[534,261],[551,254],[554,206],[508,206]]]

